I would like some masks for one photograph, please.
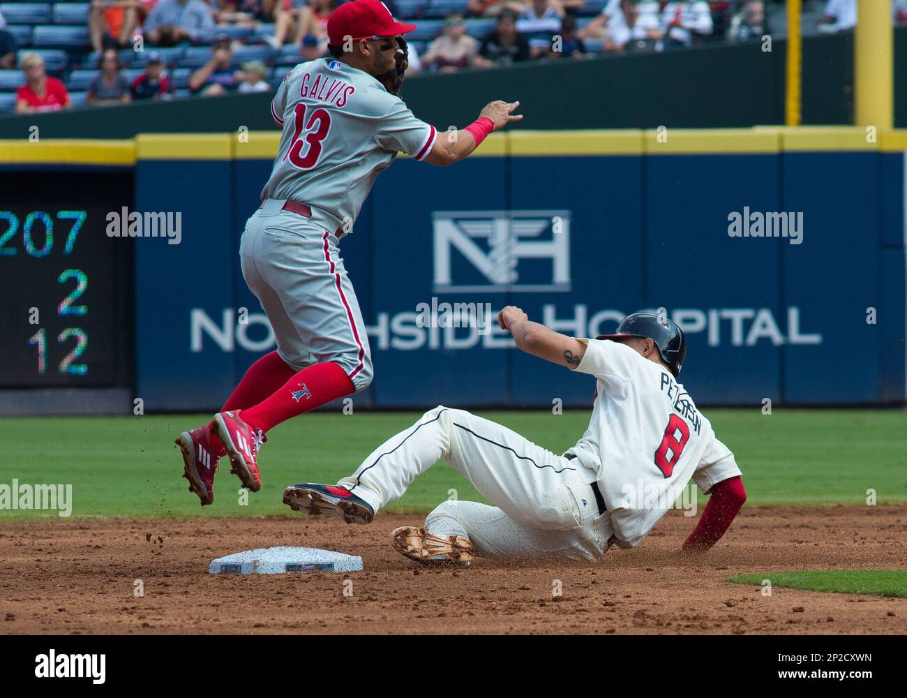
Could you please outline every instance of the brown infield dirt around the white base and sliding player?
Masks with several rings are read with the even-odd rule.
[[[671,512],[635,550],[597,564],[478,559],[428,569],[389,545],[395,526],[339,519],[43,519],[0,524],[0,633],[907,633],[907,598],[754,585],[745,572],[907,566],[900,506],[744,507],[718,546],[668,552],[695,519]],[[350,575],[209,575],[265,546],[362,555]],[[352,580],[345,585],[345,578]],[[134,590],[141,580],[143,596]],[[562,595],[552,595],[558,580]]]

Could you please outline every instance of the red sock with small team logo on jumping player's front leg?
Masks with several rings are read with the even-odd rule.
[[[356,392],[353,381],[337,364],[326,361],[302,369],[286,385],[240,417],[252,427],[267,432],[289,418]]]

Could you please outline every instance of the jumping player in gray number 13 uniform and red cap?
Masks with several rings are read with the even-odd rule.
[[[378,0],[350,0],[327,22],[330,55],[298,64],[271,103],[283,126],[261,207],[240,243],[242,273],[274,329],[278,349],[258,359],[204,427],[180,434],[189,488],[214,500],[219,458],[244,487],[261,487],[258,449],[289,418],[368,387],[366,328],[338,243],[352,230],[375,177],[405,152],[447,165],[507,123],[519,103],[487,104],[458,131],[438,134],[398,96],[402,34]]]

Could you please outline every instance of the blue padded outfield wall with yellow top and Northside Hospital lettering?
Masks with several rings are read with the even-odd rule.
[[[590,378],[496,326],[418,327],[433,299],[519,305],[575,336],[663,307],[701,404],[903,402],[907,133],[664,135],[502,133],[449,168],[398,159],[341,243],[375,361],[356,406],[590,403]],[[277,134],[136,143],[136,209],[183,215],[179,245],[136,241],[136,394],[218,408],[274,346],[238,250]],[[802,214],[802,242],[731,237],[746,210]]]

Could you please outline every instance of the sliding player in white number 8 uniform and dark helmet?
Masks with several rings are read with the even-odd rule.
[[[746,492],[734,455],[677,381],[687,351],[677,324],[640,312],[613,335],[575,339],[512,306],[498,321],[523,351],[596,378],[589,428],[575,446],[552,453],[492,421],[439,406],[336,486],[293,485],[284,502],[367,524],[444,458],[493,506],[446,501],[424,526],[395,529],[395,549],[419,562],[469,565],[473,555],[595,560],[612,544],[639,545],[690,478],[711,497],[682,549],[707,549],[724,535]]]

